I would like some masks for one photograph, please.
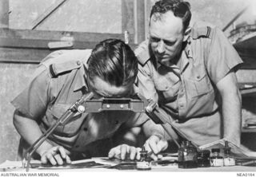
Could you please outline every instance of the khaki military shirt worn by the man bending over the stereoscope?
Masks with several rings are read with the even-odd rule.
[[[82,95],[89,93],[86,68],[90,53],[90,49],[50,53],[38,65],[30,84],[12,101],[14,107],[24,116],[37,120],[45,132]],[[80,113],[59,125],[49,139],[52,144],[72,151],[86,151],[95,141],[113,136],[121,125],[131,128],[146,121],[138,119],[134,112]]]

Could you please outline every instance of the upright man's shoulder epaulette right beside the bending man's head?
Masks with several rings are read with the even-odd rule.
[[[148,41],[142,42],[137,49],[134,50],[136,57],[138,58],[138,63],[140,65],[145,65],[147,61],[150,61],[150,48]]]

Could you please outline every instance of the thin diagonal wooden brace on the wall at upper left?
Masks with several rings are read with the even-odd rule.
[[[58,2],[55,2],[52,6],[50,6],[43,14],[39,15],[39,17],[32,22],[31,24],[31,30],[36,29],[43,21],[46,20],[46,18],[50,17],[51,14],[54,13],[54,11],[58,10],[60,6],[67,0],[58,0]]]

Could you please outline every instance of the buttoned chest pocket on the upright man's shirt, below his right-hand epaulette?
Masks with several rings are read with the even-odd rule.
[[[194,67],[186,84],[187,92],[191,97],[202,96],[213,90],[203,65]]]

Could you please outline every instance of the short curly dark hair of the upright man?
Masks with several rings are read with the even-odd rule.
[[[160,0],[155,2],[151,9],[150,18],[153,14],[165,14],[172,11],[175,17],[182,18],[183,31],[190,25],[191,11],[190,3],[182,0]],[[158,19],[161,20],[161,17]]]

